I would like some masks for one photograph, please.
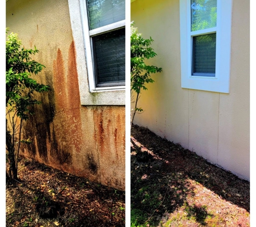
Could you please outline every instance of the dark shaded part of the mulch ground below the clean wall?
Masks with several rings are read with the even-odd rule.
[[[132,126],[131,223],[157,226],[182,207],[188,218],[205,225],[206,217],[212,214],[202,204],[187,202],[188,196],[195,196],[191,181],[250,211],[249,182],[144,127]]]

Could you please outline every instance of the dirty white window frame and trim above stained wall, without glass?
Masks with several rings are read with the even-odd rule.
[[[91,37],[125,26],[125,20],[89,31],[86,0],[68,0],[81,105],[125,105],[125,86],[96,87]]]

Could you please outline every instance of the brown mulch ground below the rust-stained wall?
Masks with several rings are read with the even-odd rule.
[[[6,186],[6,226],[125,226],[125,194],[22,159]]]

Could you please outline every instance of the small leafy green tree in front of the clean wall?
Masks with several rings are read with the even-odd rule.
[[[135,108],[132,117],[132,123],[134,120],[135,113],[137,111],[142,112],[142,108],[137,107],[137,102],[140,98],[141,89],[147,90],[146,83],[155,82],[150,76],[152,73],[162,72],[162,68],[156,66],[148,66],[144,63],[145,58],[154,58],[157,54],[154,49],[149,47],[151,42],[154,40],[143,39],[141,33],[138,33],[137,28],[134,27],[133,23],[130,27],[130,95],[132,96],[133,91],[136,93]]]

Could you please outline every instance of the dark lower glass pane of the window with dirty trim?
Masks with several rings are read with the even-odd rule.
[[[125,82],[125,29],[93,37],[96,86]]]

